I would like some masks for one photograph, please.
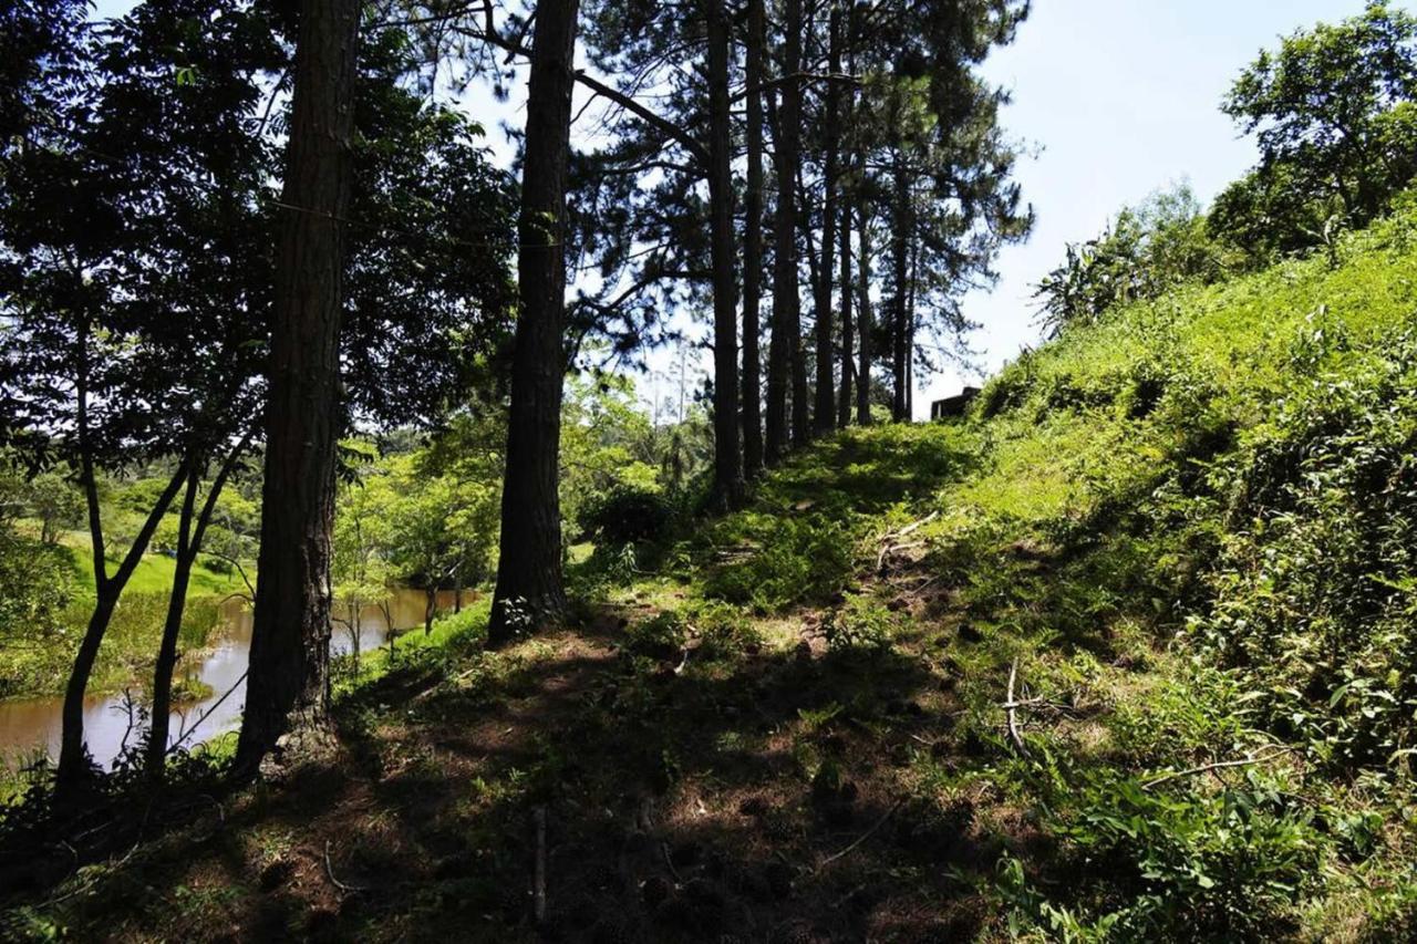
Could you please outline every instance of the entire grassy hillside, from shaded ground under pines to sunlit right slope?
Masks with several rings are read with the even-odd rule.
[[[822,442],[744,512],[577,564],[561,632],[412,634],[346,683],[329,755],[109,835],[9,920],[1407,940],[1417,213],[1336,262],[1115,310],[962,422]]]

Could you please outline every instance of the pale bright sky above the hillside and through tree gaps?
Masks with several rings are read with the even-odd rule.
[[[99,0],[96,14],[116,16],[132,6],[133,0]],[[1365,0],[1033,0],[1013,45],[995,51],[983,72],[1013,95],[1002,123],[1026,152],[1016,179],[1037,224],[1026,244],[1002,251],[998,285],[965,300],[965,316],[981,325],[969,337],[978,371],[949,367],[922,378],[917,418],[930,415],[931,400],[978,383],[1039,343],[1033,286],[1063,259],[1068,242],[1093,238],[1122,207],[1176,183],[1189,183],[1206,204],[1253,166],[1253,143],[1220,112],[1234,77],[1281,35],[1355,16],[1363,6]],[[510,163],[513,147],[500,125],[520,126],[523,101],[520,82],[507,102],[495,102],[476,86],[461,98],[486,126],[502,164]],[[594,116],[589,109],[584,125]],[[581,140],[585,133],[582,128]],[[691,336],[707,336],[707,326],[691,326],[687,316],[677,325]],[[694,354],[699,367],[689,373],[707,374],[708,352]],[[676,352],[653,352],[649,367],[650,376],[638,380],[640,393],[669,395],[670,378],[679,376]]]

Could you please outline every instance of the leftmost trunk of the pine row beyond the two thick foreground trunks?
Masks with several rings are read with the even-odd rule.
[[[708,211],[713,248],[714,493],[720,507],[743,498],[738,455],[738,312],[733,245],[733,137],[728,115],[728,17],[704,0],[708,31]]]

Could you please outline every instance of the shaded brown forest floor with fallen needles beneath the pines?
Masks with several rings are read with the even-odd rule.
[[[930,493],[954,466],[932,468],[896,476],[887,498]],[[873,478],[835,496],[863,485],[866,510],[898,517]],[[340,699],[327,753],[188,807],[181,828],[50,889],[64,900],[11,911],[13,927],[135,941],[971,938],[998,924],[978,876],[1049,842],[988,780],[944,804],[922,782],[1009,748],[1002,709],[990,743],[958,736],[962,668],[947,649],[961,629],[976,636],[908,550],[881,554],[905,543],[898,530],[859,541],[863,567],[828,602],[730,631],[694,625],[723,608],[674,617],[701,602],[696,581],[640,577],[602,585],[578,628],[411,658]],[[880,598],[888,645],[829,645],[843,591]],[[989,682],[1000,703],[1006,682],[1006,668]]]

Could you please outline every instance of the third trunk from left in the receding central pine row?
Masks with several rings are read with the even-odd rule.
[[[792,384],[792,445],[811,438],[802,300],[798,293],[796,179],[802,154],[802,0],[784,4],[782,106],[778,109],[778,242],[772,305],[782,306],[782,333]]]

